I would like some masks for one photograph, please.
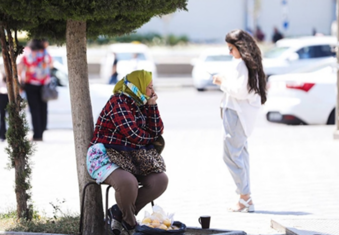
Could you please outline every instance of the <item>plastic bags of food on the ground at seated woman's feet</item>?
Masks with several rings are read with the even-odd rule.
[[[145,234],[172,234],[180,235],[186,231],[186,225],[179,221],[173,221],[174,214],[166,214],[159,206],[153,206],[153,213],[145,212],[145,217],[136,227],[136,235]]]

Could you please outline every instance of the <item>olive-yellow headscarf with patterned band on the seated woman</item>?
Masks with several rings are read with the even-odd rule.
[[[132,97],[136,103],[145,105],[149,97],[146,95],[146,87],[152,81],[152,73],[144,70],[137,70],[115,84],[113,93],[125,93]]]

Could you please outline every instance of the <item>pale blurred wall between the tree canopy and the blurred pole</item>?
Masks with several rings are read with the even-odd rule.
[[[244,0],[189,0],[188,12],[153,18],[137,31],[187,35],[193,41],[224,42],[226,33],[245,26]],[[166,23],[168,20],[168,23]]]

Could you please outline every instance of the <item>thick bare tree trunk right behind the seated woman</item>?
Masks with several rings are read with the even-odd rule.
[[[90,179],[86,167],[86,153],[94,129],[88,85],[86,22],[67,21],[66,46],[74,144],[81,198],[82,188]],[[84,235],[103,234],[104,213],[99,185],[91,185],[87,188],[83,223]]]

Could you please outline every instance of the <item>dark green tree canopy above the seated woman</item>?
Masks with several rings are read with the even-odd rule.
[[[0,24],[29,37],[65,42],[68,19],[86,21],[88,38],[130,33],[153,16],[187,10],[188,0],[1,0]],[[3,17],[2,17],[3,16]],[[4,18],[4,16],[6,16]]]

